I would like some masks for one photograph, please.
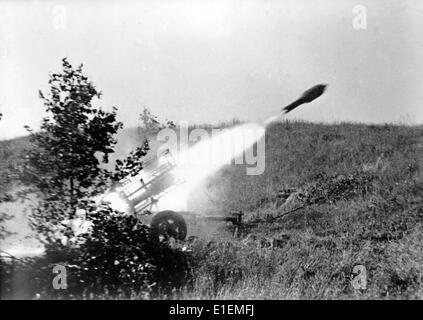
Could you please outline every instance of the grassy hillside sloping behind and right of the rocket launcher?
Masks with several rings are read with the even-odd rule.
[[[19,148],[1,142],[2,166]],[[159,298],[423,298],[423,128],[274,124],[262,175],[226,166],[204,188],[246,226],[191,239],[191,281]]]

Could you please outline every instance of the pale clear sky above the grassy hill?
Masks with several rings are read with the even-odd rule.
[[[126,127],[143,107],[260,122],[318,83],[327,92],[288,118],[422,124],[422,33],[420,0],[0,0],[0,139],[39,127],[38,90],[63,57]]]

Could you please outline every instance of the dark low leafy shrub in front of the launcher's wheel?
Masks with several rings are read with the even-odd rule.
[[[106,205],[87,211],[89,232],[72,239],[73,245],[50,244],[43,257],[30,260],[32,297],[148,298],[187,280],[189,257],[181,246],[160,241],[138,219]],[[67,290],[52,286],[55,265],[66,268]]]

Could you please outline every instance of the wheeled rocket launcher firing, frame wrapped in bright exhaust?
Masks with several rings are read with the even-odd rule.
[[[183,177],[175,174],[177,163],[169,150],[162,152],[157,159],[144,163],[143,169],[135,176],[125,177],[110,188],[102,201],[108,202],[117,211],[143,216],[152,216],[150,226],[158,235],[167,235],[179,240],[187,235],[187,223],[183,216],[193,215],[214,221],[241,224],[242,213],[225,216],[201,215],[195,212],[159,211],[159,201],[174,189],[185,183]]]

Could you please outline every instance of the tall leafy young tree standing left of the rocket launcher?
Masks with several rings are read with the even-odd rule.
[[[82,65],[73,68],[64,58],[62,66],[61,73],[50,75],[49,93],[39,92],[48,116],[39,132],[26,127],[33,148],[22,168],[23,181],[41,199],[32,225],[47,242],[55,241],[58,230],[60,235],[70,233],[60,227],[74,217],[78,200],[106,186],[110,173],[99,165],[108,162],[114,135],[122,127],[116,108],[106,112],[93,106],[101,93],[83,75]]]

